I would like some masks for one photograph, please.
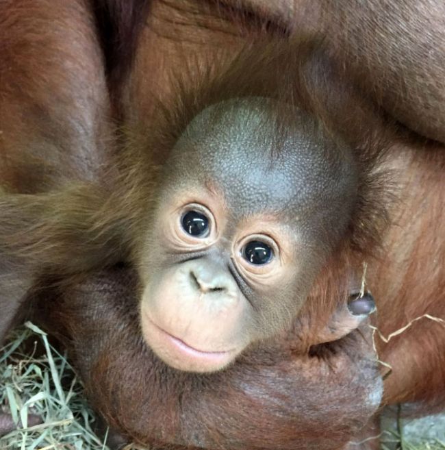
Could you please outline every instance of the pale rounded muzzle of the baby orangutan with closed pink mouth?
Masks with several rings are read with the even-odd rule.
[[[250,305],[239,293],[203,294],[186,266],[153,274],[142,296],[142,333],[164,362],[183,371],[227,366],[250,343]]]

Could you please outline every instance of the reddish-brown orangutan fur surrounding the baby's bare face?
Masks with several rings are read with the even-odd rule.
[[[94,405],[130,440],[339,449],[381,395],[369,338],[319,345],[362,263],[384,334],[444,315],[444,5],[311,2],[266,26],[266,6],[246,3],[251,14],[153,1],[147,27],[144,1],[0,6],[0,333],[24,301],[43,311]],[[356,214],[290,332],[223,373],[175,373],[139,337],[131,269],[87,272],[144,248],[155,168],[190,119],[248,96],[302,108],[347,142],[361,173]],[[390,114],[418,135],[393,134]],[[443,405],[440,325],[418,321],[379,353],[393,368],[383,404]]]

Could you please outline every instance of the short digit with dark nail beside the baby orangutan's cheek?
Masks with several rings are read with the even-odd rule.
[[[341,303],[331,317],[331,320],[316,338],[316,345],[338,340],[358,328],[376,310],[374,297],[370,292],[364,292],[360,297],[353,297]]]

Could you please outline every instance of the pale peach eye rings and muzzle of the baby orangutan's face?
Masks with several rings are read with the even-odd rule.
[[[182,370],[218,370],[268,336],[280,320],[269,299],[300,270],[290,226],[261,215],[237,223],[223,199],[196,189],[172,199],[160,221],[169,262],[144,292],[142,327],[153,351]]]

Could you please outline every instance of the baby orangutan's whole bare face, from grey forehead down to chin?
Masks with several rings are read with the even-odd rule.
[[[207,108],[165,164],[140,317],[179,370],[218,371],[290,327],[351,218],[350,153],[298,111],[299,132],[278,139],[271,114],[264,99]]]

